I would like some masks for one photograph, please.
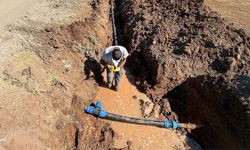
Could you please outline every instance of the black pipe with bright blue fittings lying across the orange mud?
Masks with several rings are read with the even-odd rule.
[[[120,115],[115,115],[112,113],[106,112],[102,108],[102,102],[98,101],[95,106],[87,106],[85,112],[99,118],[105,118],[115,121],[127,122],[127,123],[135,123],[135,124],[144,124],[144,125],[151,125],[151,126],[158,126],[164,128],[173,128],[177,129],[180,127],[179,123],[176,121],[158,121],[158,120],[149,120],[149,119],[139,119],[139,118],[132,118],[132,117],[125,117]]]

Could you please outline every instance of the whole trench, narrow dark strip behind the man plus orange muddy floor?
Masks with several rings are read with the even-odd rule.
[[[118,44],[126,47],[123,38],[123,23],[120,16],[120,1],[115,1],[114,16],[116,22],[113,24],[116,29]],[[115,41],[116,38],[113,38]],[[113,42],[116,44],[116,42]],[[129,67],[129,66],[128,66]],[[133,85],[134,76],[126,73],[121,80],[118,92],[107,88],[106,73],[103,74],[104,82],[100,84],[100,90],[95,97],[95,102],[102,101],[103,108],[117,115],[124,115],[136,118],[150,118],[152,120],[165,120],[166,117],[159,117],[159,110],[153,102],[144,94],[138,91]],[[164,129],[146,125],[137,125],[105,120],[114,130],[113,148],[117,149],[176,149],[176,148],[199,148],[191,138],[181,135],[173,129]]]

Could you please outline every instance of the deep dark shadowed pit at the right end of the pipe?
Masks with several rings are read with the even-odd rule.
[[[192,137],[204,149],[249,149],[249,76],[198,76],[167,93],[180,122],[203,124]]]

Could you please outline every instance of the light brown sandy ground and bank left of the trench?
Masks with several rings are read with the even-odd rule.
[[[0,16],[11,17],[1,22],[0,149],[111,147],[109,124],[82,111],[111,42],[108,1],[19,4],[6,2]]]

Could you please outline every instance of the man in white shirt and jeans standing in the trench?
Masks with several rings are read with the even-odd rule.
[[[103,71],[105,69],[107,71],[108,87],[114,88],[115,91],[119,89],[127,57],[128,51],[123,46],[110,46],[102,52],[100,62],[103,65]],[[114,86],[113,81],[115,81]]]

